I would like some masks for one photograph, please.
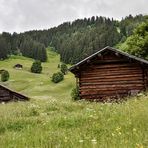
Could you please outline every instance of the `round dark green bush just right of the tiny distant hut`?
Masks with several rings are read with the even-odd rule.
[[[31,72],[33,73],[41,73],[42,72],[42,65],[40,61],[35,61],[31,66]]]

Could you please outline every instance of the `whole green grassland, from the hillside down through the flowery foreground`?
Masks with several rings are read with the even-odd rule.
[[[24,69],[13,69],[16,63]],[[0,105],[0,147],[148,147],[148,96],[113,105],[72,102],[72,74],[59,84],[50,81],[58,63],[59,56],[49,52],[38,75],[29,72],[31,59],[0,62],[11,74],[5,85],[33,98]]]

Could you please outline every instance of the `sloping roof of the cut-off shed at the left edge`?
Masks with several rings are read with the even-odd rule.
[[[18,100],[29,100],[29,98],[27,96],[25,96],[23,94],[20,94],[20,93],[18,93],[16,91],[13,91],[13,90],[7,88],[6,86],[3,86],[3,85],[0,84],[0,88],[3,88],[5,90],[9,91],[11,94],[18,97],[19,98]]]

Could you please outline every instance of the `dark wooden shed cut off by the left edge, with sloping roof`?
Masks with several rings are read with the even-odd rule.
[[[25,101],[25,100],[29,100],[29,98],[20,93],[12,91],[3,85],[0,85],[0,103],[8,102],[8,101],[17,101],[17,100]]]

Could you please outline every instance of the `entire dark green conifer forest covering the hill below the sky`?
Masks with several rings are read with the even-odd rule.
[[[42,62],[47,60],[46,47],[60,54],[61,61],[74,64],[105,46],[123,43],[134,28],[145,22],[148,16],[129,15],[117,21],[93,16],[65,22],[48,30],[0,35],[0,59],[11,54],[31,57]]]

